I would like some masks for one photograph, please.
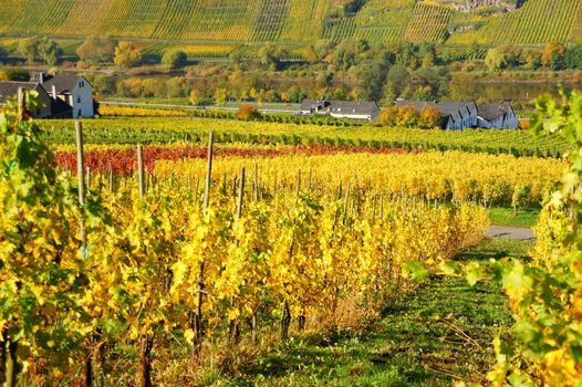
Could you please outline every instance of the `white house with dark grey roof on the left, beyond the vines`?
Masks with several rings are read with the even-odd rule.
[[[84,76],[38,73],[31,81],[39,82],[53,100],[61,100],[71,106],[73,118],[87,118],[95,115],[93,85]]]

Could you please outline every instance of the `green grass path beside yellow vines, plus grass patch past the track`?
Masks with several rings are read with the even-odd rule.
[[[488,239],[463,261],[524,258],[531,242]],[[366,332],[293,339],[219,385],[450,386],[485,381],[495,363],[491,342],[513,320],[497,284],[432,276],[389,306]]]

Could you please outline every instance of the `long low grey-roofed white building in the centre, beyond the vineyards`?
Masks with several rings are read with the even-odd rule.
[[[370,101],[313,101],[301,104],[300,115],[330,115],[335,118],[373,121],[380,114],[380,107]]]

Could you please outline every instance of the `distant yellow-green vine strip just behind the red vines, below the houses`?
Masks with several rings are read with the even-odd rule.
[[[71,121],[43,121],[44,138],[53,144],[74,142]],[[343,124],[342,124],[343,125]],[[236,122],[220,119],[132,117],[87,121],[87,144],[173,144],[201,143],[208,128],[220,144],[335,145],[374,148],[408,148],[512,154],[516,156],[560,157],[567,143],[555,136],[536,137],[521,130],[463,132],[423,130],[362,126],[346,128],[314,124]]]

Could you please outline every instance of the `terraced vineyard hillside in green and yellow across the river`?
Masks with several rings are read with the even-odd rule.
[[[196,42],[399,40],[447,44],[582,41],[582,0],[527,0],[517,11],[456,11],[445,0],[2,0],[0,35],[114,35]]]

